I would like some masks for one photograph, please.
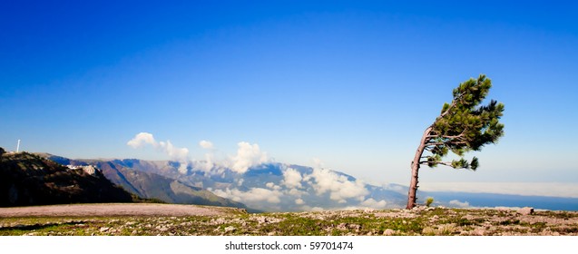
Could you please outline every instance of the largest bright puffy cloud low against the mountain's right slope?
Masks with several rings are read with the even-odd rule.
[[[305,180],[313,180],[311,185],[318,195],[329,191],[329,199],[345,201],[346,199],[363,198],[369,193],[362,181],[349,181],[344,175],[325,169],[314,169]]]

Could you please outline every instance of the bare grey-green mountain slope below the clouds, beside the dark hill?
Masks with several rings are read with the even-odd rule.
[[[191,186],[190,184],[150,171],[134,170],[119,160],[70,160],[48,153],[41,153],[41,155],[51,161],[68,165],[94,165],[103,171],[103,175],[107,179],[143,199],[156,199],[176,204],[212,205],[248,209],[246,205],[240,202],[221,198],[211,191],[203,190],[202,188]],[[127,161],[132,165],[130,163],[131,160]],[[151,163],[152,165],[156,165],[155,168],[162,165],[162,163],[149,161],[138,162]]]

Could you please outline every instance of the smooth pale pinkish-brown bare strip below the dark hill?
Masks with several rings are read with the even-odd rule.
[[[207,216],[236,209],[179,204],[104,203],[0,208],[0,218],[52,216]]]

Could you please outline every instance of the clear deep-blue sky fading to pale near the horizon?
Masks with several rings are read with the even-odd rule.
[[[168,159],[127,145],[149,132],[194,160],[201,141],[222,157],[249,142],[407,184],[426,126],[485,73],[505,137],[468,154],[479,171],[424,168],[422,182],[578,184],[573,2],[54,2],[0,3],[7,150]]]

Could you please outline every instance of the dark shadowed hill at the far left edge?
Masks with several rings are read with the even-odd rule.
[[[2,207],[133,200],[93,167],[69,169],[27,152],[0,157]]]

